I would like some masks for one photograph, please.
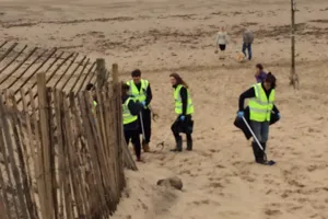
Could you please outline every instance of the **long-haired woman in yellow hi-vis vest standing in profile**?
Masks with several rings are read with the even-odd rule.
[[[173,96],[175,101],[175,113],[177,118],[173,123],[171,129],[173,131],[176,147],[171,151],[183,151],[183,138],[179,135],[185,132],[187,137],[187,150],[192,150],[192,129],[194,120],[191,118],[194,114],[194,104],[190,96],[189,88],[187,83],[177,73],[169,74],[171,83],[174,89]]]

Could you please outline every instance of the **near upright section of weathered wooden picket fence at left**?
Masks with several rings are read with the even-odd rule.
[[[124,166],[137,170],[122,140],[120,84],[87,91],[46,87],[0,95],[0,218],[105,219],[125,187]],[[25,95],[28,93],[28,95]],[[27,104],[30,103],[30,104]]]

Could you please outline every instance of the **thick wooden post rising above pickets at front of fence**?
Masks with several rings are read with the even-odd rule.
[[[52,203],[52,177],[51,177],[51,163],[50,163],[50,124],[49,124],[49,102],[46,88],[46,74],[37,74],[37,96],[38,96],[38,111],[39,111],[39,127],[42,135],[42,147],[38,151],[38,161],[42,165],[42,177],[44,183],[44,200],[45,200],[45,214],[44,217],[54,219],[54,203]],[[42,194],[39,194],[42,195]]]

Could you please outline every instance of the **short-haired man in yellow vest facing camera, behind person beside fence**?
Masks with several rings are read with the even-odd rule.
[[[142,134],[142,149],[149,152],[149,143],[151,140],[151,111],[149,105],[152,101],[152,90],[150,83],[145,79],[141,79],[141,71],[136,69],[131,72],[132,80],[127,81],[130,87],[130,95],[138,100],[142,105],[142,111],[138,115],[139,134]]]

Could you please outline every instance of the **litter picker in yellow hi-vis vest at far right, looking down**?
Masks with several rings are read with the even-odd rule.
[[[250,128],[263,149],[261,150],[256,139],[253,139],[251,147],[255,161],[260,164],[267,164],[265,151],[269,138],[271,113],[273,112],[277,114],[277,117],[280,118],[279,110],[274,105],[276,77],[269,72],[263,82],[254,84],[250,89],[241,94],[238,117],[244,117],[245,99],[249,99]]]

